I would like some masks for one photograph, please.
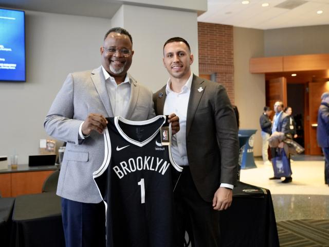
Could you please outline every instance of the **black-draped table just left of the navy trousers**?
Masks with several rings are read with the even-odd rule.
[[[61,198],[55,193],[17,197],[11,246],[65,246],[61,214]]]

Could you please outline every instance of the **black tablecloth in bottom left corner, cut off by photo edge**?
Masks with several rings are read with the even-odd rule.
[[[15,198],[0,198],[0,245],[9,246],[11,214]]]

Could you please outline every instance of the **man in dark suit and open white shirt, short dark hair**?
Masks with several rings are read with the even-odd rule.
[[[191,73],[193,55],[186,40],[169,39],[163,56],[170,79],[154,94],[154,109],[179,116],[172,154],[184,166],[174,191],[175,246],[183,246],[185,230],[192,246],[220,246],[218,210],[231,205],[237,176],[235,115],[221,84]]]

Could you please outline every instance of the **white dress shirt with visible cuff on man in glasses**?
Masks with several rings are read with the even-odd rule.
[[[131,92],[129,76],[126,74],[124,81],[118,85],[114,77],[110,76],[103,66],[102,70],[113,115],[125,117]],[[87,137],[82,134],[83,123],[84,121],[79,127],[79,136],[81,139]]]

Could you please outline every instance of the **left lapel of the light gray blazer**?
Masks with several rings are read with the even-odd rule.
[[[102,71],[102,66],[99,68],[96,68],[92,71],[91,75],[92,81],[96,87],[96,91],[99,95],[99,97],[102,100],[102,103],[104,104],[105,110],[109,117],[113,117],[113,111],[111,107],[111,101],[109,101],[108,93],[106,90],[105,85],[105,78]]]

